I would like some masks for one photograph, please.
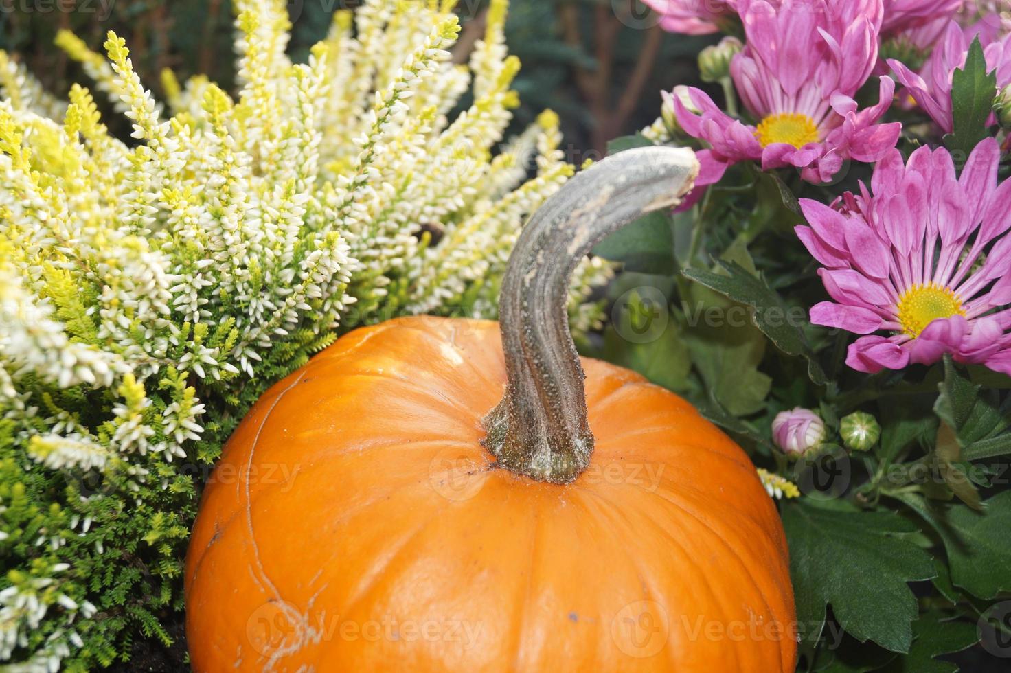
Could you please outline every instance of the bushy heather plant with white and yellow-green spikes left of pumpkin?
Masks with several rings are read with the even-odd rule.
[[[495,1],[467,65],[452,2],[368,0],[306,63],[281,0],[237,10],[238,90],[125,41],[58,44],[68,101],[0,54],[0,662],[88,670],[168,645],[201,482],[249,406],[343,331],[495,316],[525,217],[570,176],[558,119],[503,143],[519,63]],[[472,102],[454,112],[465,94]],[[587,261],[572,294],[585,331]]]

